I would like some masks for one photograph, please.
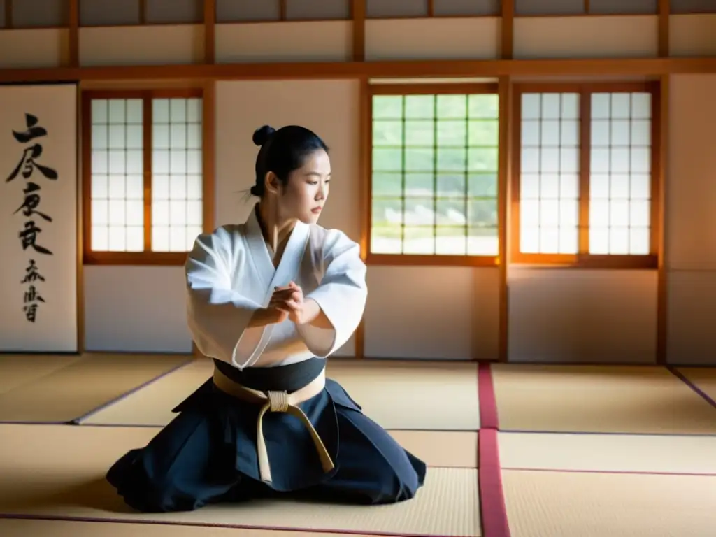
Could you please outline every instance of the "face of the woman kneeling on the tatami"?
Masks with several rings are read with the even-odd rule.
[[[331,160],[324,150],[316,150],[304,159],[304,165],[289,175],[279,188],[279,217],[316,223],[328,199]]]

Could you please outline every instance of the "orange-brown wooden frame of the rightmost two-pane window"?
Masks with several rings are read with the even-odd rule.
[[[523,93],[579,93],[579,253],[522,253],[520,251],[520,182],[521,125]],[[648,92],[652,95],[651,116],[651,198],[649,222],[649,253],[589,253],[589,192],[591,166],[591,94],[598,92]],[[588,83],[588,84],[515,84],[513,102],[513,140],[510,178],[510,262],[583,269],[657,269],[662,222],[659,218],[659,178],[662,174],[661,153],[661,86],[659,82]]]

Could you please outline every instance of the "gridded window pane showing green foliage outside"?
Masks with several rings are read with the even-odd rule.
[[[371,252],[498,254],[498,96],[373,97]]]

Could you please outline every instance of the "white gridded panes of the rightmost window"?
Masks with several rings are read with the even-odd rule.
[[[520,125],[520,253],[651,253],[650,92],[526,92]]]

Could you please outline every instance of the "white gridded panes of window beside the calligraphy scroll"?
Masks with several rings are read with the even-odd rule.
[[[150,251],[189,251],[203,231],[202,99],[92,99],[90,110],[90,250],[147,251],[149,225]]]

